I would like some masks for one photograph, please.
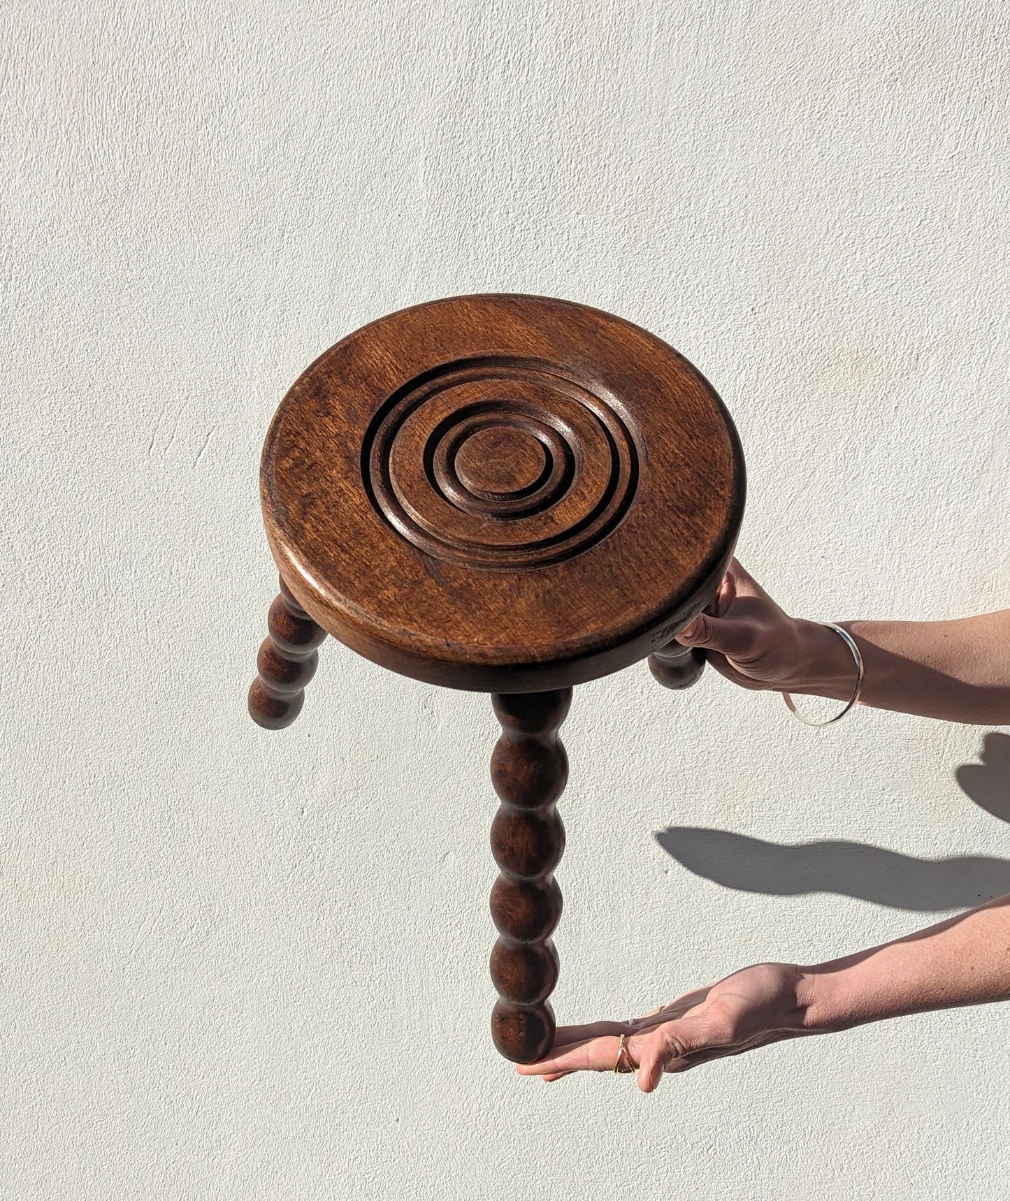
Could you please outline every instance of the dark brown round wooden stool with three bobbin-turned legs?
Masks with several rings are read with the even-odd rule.
[[[718,588],[743,486],[733,422],[686,359],[543,297],[455,297],[365,325],[270,425],[261,492],[281,594],[250,713],[294,721],[328,633],[393,671],[492,693],[491,1034],[509,1059],[554,1040],[572,686],[646,657],[671,688],[698,679],[704,656],[671,639]]]

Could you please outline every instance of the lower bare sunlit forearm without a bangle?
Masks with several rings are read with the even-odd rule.
[[[801,972],[802,1028],[812,1034],[1010,999],[1010,896]]]

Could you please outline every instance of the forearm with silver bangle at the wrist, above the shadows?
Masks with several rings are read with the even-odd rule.
[[[1010,609],[957,621],[848,621],[862,655],[861,701],[949,722],[1010,723]],[[796,623],[803,644],[788,689],[848,700],[853,656],[815,622]]]

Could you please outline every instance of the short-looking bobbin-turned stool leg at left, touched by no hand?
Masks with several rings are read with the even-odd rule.
[[[257,725],[282,730],[305,704],[305,685],[316,674],[316,647],[327,637],[294,599],[281,578],[281,594],[267,617],[270,637],[256,657],[259,675],[249,689],[249,713]]]

